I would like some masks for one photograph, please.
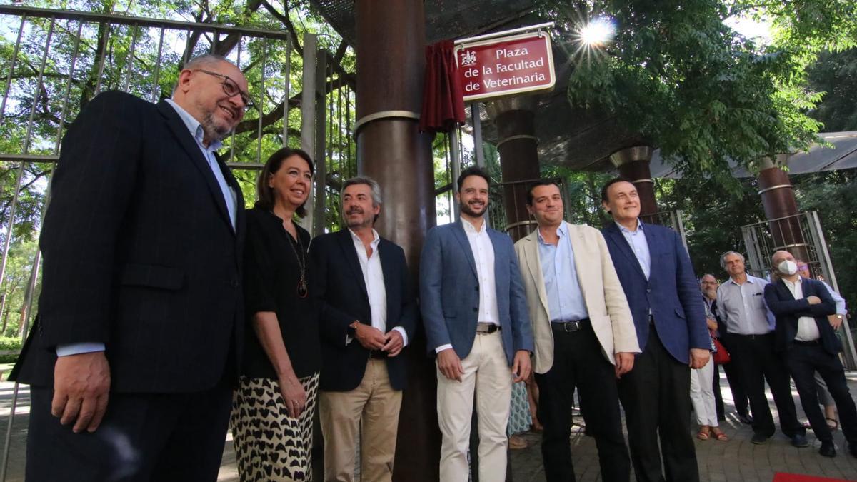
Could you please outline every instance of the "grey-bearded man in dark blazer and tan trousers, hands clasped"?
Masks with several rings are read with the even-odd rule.
[[[401,352],[417,326],[405,251],[381,238],[381,186],[372,178],[342,184],[347,229],[313,240],[312,289],[321,314],[324,479],[351,482],[356,441],[364,480],[389,481],[405,388]]]

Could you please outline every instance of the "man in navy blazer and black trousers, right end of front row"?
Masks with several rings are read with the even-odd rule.
[[[613,216],[602,232],[643,350],[619,381],[634,473],[641,482],[698,480],[690,369],[708,363],[711,342],[690,258],[677,232],[640,222],[631,182],[608,182],[602,205]]]

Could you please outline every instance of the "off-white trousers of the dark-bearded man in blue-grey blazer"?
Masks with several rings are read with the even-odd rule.
[[[462,381],[437,371],[437,419],[440,445],[440,480],[466,482],[469,476],[470,419],[476,392],[479,419],[479,479],[506,480],[506,424],[512,401],[512,370],[503,351],[500,332],[476,334],[473,348],[461,360]]]

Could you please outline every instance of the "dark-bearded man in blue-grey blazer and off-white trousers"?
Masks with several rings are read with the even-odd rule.
[[[506,479],[512,378],[530,375],[532,328],[512,239],[484,218],[490,182],[478,167],[461,172],[461,220],[429,230],[420,258],[423,323],[437,355],[440,480],[467,480],[474,392],[479,479]]]

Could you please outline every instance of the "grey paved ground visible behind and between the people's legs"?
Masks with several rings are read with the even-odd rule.
[[[3,367],[0,367],[2,369]],[[834,479],[857,481],[857,458],[848,455],[842,431],[836,431],[836,446],[839,455],[827,459],[818,455],[818,441],[807,434],[812,447],[794,449],[788,439],[782,434],[773,437],[765,445],[752,445],[752,431],[747,425],[740,425],[734,418],[731,406],[731,394],[726,388],[726,379],[722,379],[724,389],[723,399],[727,403],[727,421],[721,427],[728,435],[728,442],[716,440],[696,441],[699,472],[702,480],[712,482],[770,482],[776,472],[802,473],[830,477]],[[848,374],[848,386],[852,394],[857,394],[857,372]],[[794,399],[797,401],[797,392]],[[11,383],[0,383],[0,433],[5,436],[9,423],[9,407],[13,394]],[[803,416],[800,410],[798,412]],[[27,437],[27,413],[29,394],[26,387],[21,388],[18,408],[12,425],[11,447],[9,451],[9,466],[6,480],[20,481],[23,479],[25,463],[25,440]],[[774,407],[771,400],[770,406]],[[776,412],[775,412],[776,417]],[[516,482],[539,482],[544,480],[542,456],[539,450],[540,436],[535,433],[524,434],[529,446],[526,449],[512,452],[512,471]],[[235,455],[231,447],[231,438],[227,440],[223,465],[220,469],[219,480],[237,481]],[[575,472],[580,482],[600,480],[595,442],[591,437],[584,437],[582,431],[572,433],[572,458]]]

